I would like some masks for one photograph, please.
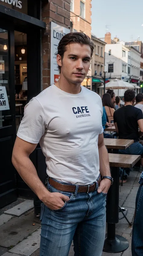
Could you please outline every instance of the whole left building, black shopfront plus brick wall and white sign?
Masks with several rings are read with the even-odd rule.
[[[70,0],[0,1],[0,24],[0,207],[3,207],[17,196],[33,195],[11,163],[12,149],[25,104],[51,83],[57,47],[53,49],[53,42],[58,44],[70,32]],[[55,65],[52,81],[56,76]],[[38,145],[31,154],[37,172],[39,168],[45,172],[42,158]]]

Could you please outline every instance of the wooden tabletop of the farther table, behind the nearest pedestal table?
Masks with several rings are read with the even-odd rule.
[[[104,138],[106,148],[126,149],[134,143],[134,140]]]

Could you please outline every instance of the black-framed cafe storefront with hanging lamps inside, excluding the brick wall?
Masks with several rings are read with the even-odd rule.
[[[11,154],[24,105],[41,91],[45,28],[40,0],[0,0],[0,208],[27,191]]]

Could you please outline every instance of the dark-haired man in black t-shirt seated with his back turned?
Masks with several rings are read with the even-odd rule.
[[[120,154],[141,155],[141,165],[143,166],[143,146],[139,143],[139,133],[143,132],[143,114],[138,108],[135,108],[135,91],[126,90],[124,93],[125,105],[117,109],[114,114],[114,125],[119,139],[131,139],[134,143],[126,150],[119,150]],[[124,172],[123,183],[127,181],[129,172]]]

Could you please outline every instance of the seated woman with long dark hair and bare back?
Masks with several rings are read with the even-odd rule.
[[[110,124],[113,123],[113,114],[115,109],[113,108],[113,103],[111,102],[111,96],[108,93],[103,94],[102,96],[102,104],[106,111],[106,119]]]

